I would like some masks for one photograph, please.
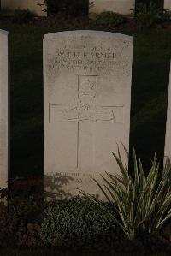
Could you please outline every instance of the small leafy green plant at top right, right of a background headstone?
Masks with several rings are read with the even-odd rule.
[[[155,3],[137,4],[134,10],[135,20],[139,22],[142,27],[151,27],[156,21],[162,17],[162,9],[156,7]]]

